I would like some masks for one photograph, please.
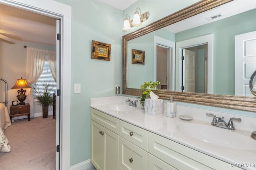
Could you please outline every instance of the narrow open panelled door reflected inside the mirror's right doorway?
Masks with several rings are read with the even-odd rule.
[[[196,53],[183,49],[183,85],[184,92],[195,92],[196,90]]]

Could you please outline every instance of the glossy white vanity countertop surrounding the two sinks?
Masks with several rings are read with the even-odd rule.
[[[107,99],[107,98],[105,98]],[[121,99],[121,100],[120,100]],[[218,158],[228,163],[236,164],[240,166],[245,164],[248,167],[242,165],[241,168],[244,169],[256,169],[256,141],[254,150],[239,150],[230,149],[227,147],[222,147],[219,145],[213,145],[193,137],[190,137],[181,131],[179,131],[176,126],[185,123],[201,124],[206,126],[211,126],[211,121],[204,121],[196,119],[196,116],[192,120],[182,120],[179,118],[178,108],[177,115],[174,118],[166,116],[166,113],[162,115],[148,115],[141,108],[136,108],[135,111],[123,112],[123,111],[113,111],[108,109],[109,104],[125,104],[123,98],[119,100],[96,100],[96,98],[91,99],[91,107],[102,111],[108,115],[112,115],[120,120],[126,121],[152,133],[156,133],[162,137],[166,137],[172,141],[185,145],[189,148],[195,149],[199,152]],[[118,102],[117,102],[118,101]],[[212,117],[210,118],[212,120]],[[216,127],[218,128],[218,127]],[[218,128],[220,131],[230,131],[227,129]],[[231,133],[240,133],[247,137],[250,137],[251,131],[246,131],[236,128],[235,131],[230,131]],[[216,136],[218,138],[218,136]]]

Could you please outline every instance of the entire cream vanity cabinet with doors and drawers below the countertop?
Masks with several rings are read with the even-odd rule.
[[[240,169],[96,109],[90,113],[90,160],[97,170]]]

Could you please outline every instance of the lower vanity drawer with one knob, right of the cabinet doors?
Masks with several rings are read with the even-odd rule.
[[[119,137],[119,166],[122,170],[147,170],[148,152]]]

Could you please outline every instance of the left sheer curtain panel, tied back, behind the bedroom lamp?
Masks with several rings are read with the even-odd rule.
[[[28,47],[27,49],[27,82],[32,88],[28,90],[28,103],[30,104],[30,117],[34,117],[33,84],[42,74],[47,50]]]

